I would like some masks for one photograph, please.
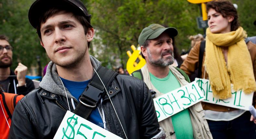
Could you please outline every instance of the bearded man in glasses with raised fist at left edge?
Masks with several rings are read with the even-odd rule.
[[[35,87],[32,80],[26,78],[26,66],[18,63],[14,72],[10,70],[12,50],[8,37],[0,35],[0,89],[2,92],[26,95]]]

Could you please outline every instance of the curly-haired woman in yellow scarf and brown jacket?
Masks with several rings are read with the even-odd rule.
[[[201,78],[209,79],[213,94],[219,99],[231,97],[234,90],[246,94],[256,90],[256,45],[245,42],[237,10],[230,1],[206,4],[208,28]],[[191,49],[181,69],[191,75],[198,68],[200,42]],[[206,70],[205,76],[204,71]],[[255,92],[253,105],[255,106]],[[255,139],[256,125],[249,111],[202,102],[205,118],[215,139]]]

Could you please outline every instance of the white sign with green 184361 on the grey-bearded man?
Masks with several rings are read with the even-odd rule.
[[[158,122],[204,100],[195,81],[154,99]]]

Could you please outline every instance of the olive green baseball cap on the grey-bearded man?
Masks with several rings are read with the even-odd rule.
[[[147,39],[157,38],[165,31],[169,34],[170,37],[175,37],[178,35],[178,30],[174,27],[165,28],[159,24],[151,24],[142,30],[138,39],[138,43],[140,46],[142,46]]]

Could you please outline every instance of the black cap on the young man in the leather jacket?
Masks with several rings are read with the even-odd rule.
[[[30,24],[36,28],[40,24],[39,19],[42,14],[53,7],[66,7],[75,10],[77,13],[85,16],[91,26],[91,15],[80,0],[36,0],[29,8]]]

